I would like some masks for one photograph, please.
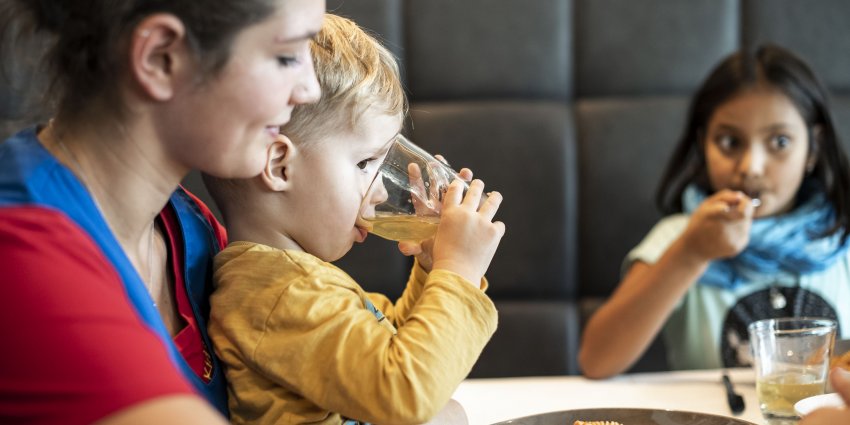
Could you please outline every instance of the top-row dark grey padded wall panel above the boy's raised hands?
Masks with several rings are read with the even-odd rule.
[[[409,0],[408,77],[418,101],[570,95],[568,0]]]

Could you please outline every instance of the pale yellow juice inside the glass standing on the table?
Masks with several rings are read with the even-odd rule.
[[[756,381],[759,405],[765,417],[796,417],[794,404],[823,394],[826,382],[809,373],[770,375]]]

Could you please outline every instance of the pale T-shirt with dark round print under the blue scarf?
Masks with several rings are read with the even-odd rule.
[[[626,256],[623,271],[635,261],[657,262],[689,220],[676,214],[659,221]],[[748,365],[746,326],[783,316],[831,317],[838,321],[838,337],[850,336],[850,254],[820,272],[778,274],[736,289],[694,284],[664,325],[667,360],[673,369]]]

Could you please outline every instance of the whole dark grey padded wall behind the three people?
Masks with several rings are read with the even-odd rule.
[[[328,0],[328,10],[399,58],[411,140],[505,197],[488,272],[499,329],[471,377],[579,373],[582,325],[660,218],[654,191],[689,96],[727,54],[769,41],[803,57],[850,146],[846,0]],[[43,82],[26,57],[2,66],[5,138],[39,118],[26,112]],[[212,206],[196,174],[185,185]],[[374,236],[338,263],[390,296],[410,266]],[[665,369],[660,344],[632,371]]]

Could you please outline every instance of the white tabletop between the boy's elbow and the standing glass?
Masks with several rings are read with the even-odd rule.
[[[608,380],[581,376],[467,379],[453,398],[471,425],[484,425],[537,413],[591,407],[686,410],[730,416],[722,370],[620,375]],[[730,369],[746,409],[737,417],[766,424],[756,397],[752,369]]]

